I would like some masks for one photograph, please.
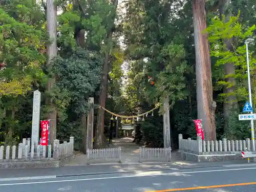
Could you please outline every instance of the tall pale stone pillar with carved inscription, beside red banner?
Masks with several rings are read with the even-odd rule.
[[[31,145],[33,144],[36,150],[36,146],[39,142],[39,126],[40,126],[40,102],[41,93],[34,91],[33,98],[33,115],[32,115],[32,132],[31,132]]]

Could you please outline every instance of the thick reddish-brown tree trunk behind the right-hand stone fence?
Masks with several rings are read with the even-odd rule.
[[[193,23],[196,49],[197,111],[203,120],[205,140],[216,140],[215,109],[212,99],[211,62],[206,29],[205,0],[193,0]]]

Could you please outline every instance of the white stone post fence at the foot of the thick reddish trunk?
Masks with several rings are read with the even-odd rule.
[[[179,134],[179,150],[197,153],[251,151],[251,143],[249,138],[245,140],[227,140],[224,138],[219,141],[205,141],[200,136],[197,137],[197,140],[183,139],[182,134]]]

